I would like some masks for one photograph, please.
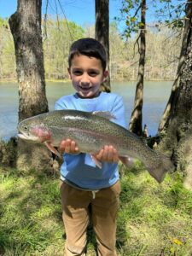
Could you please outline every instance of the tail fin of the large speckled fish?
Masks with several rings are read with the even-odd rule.
[[[161,157],[161,163],[159,166],[151,166],[148,168],[148,172],[152,177],[154,177],[158,183],[161,183],[166,176],[166,172],[172,172],[174,170],[172,161],[167,156],[163,155]]]

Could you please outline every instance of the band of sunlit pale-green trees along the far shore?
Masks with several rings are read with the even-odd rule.
[[[47,37],[43,37],[44,68],[46,79],[67,78],[67,52],[72,38],[69,34],[66,20],[58,21],[48,16]],[[44,24],[43,24],[44,25]],[[68,26],[74,39],[94,37],[94,27],[82,28],[68,21]],[[0,79],[16,79],[15,49],[9,30],[8,20],[0,22]],[[44,33],[44,26],[43,26]],[[180,53],[181,40],[172,34],[168,28],[158,31],[158,28],[147,28],[146,33],[146,80],[174,79]],[[118,26],[112,22],[109,26],[110,43],[110,77],[111,80],[136,80],[139,55],[134,55],[135,38],[128,42],[122,39]],[[55,44],[56,43],[56,44]]]

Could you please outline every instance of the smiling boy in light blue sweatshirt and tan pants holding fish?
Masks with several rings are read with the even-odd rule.
[[[100,91],[107,78],[106,52],[93,38],[82,38],[71,46],[68,73],[76,93],[62,96],[55,109],[77,109],[86,112],[109,111],[112,121],[125,126],[122,98]],[[103,127],[105,129],[105,127]],[[85,255],[86,230],[91,218],[96,233],[99,256],[115,256],[116,216],[119,207],[118,152],[106,145],[94,155],[102,161],[98,168],[90,154],[79,152],[78,145],[67,139],[61,142],[65,152],[61,166],[62,217],[67,241],[65,255]]]

